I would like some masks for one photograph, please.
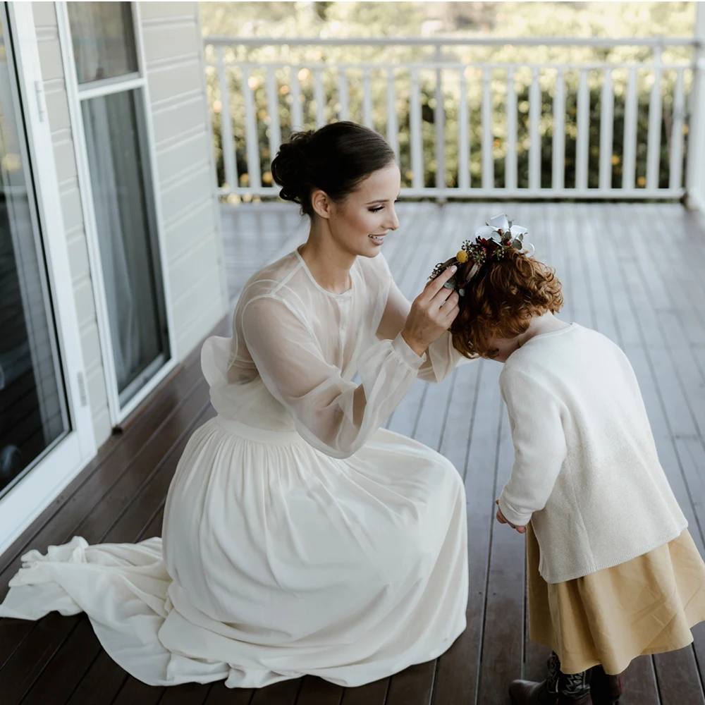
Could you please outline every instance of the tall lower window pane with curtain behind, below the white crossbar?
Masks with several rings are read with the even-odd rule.
[[[141,90],[82,102],[118,392],[124,405],[168,357]],[[145,195],[149,193],[147,198]]]

